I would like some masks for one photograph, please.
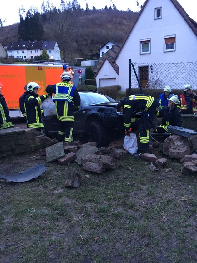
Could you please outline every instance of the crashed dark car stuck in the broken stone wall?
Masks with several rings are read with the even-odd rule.
[[[74,112],[73,135],[89,134],[93,142],[103,145],[108,134],[124,130],[123,114],[116,111],[119,101],[96,91],[79,92],[81,106]],[[55,115],[42,117],[46,136],[58,134],[58,120]]]

